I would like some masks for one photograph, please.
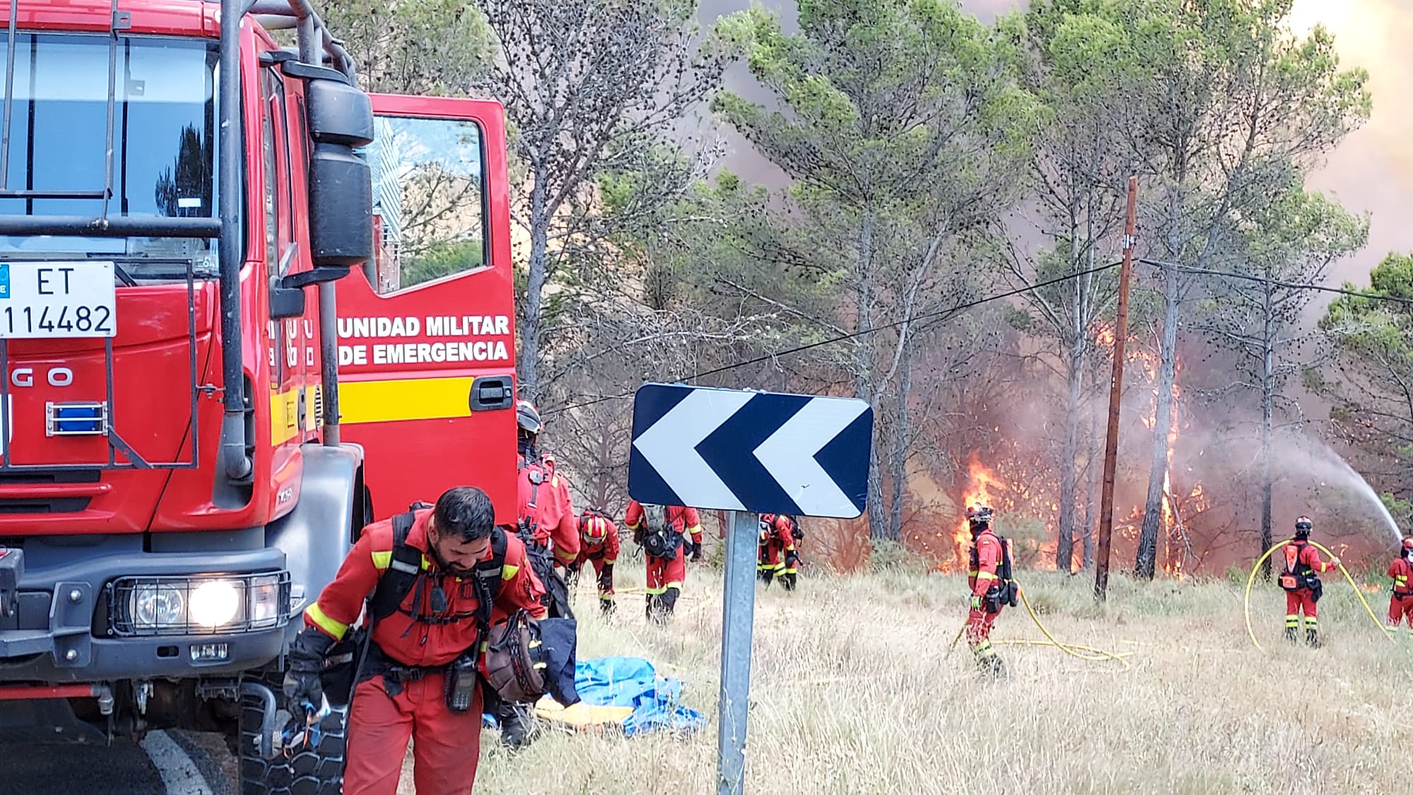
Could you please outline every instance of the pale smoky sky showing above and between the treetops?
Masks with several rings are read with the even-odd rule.
[[[793,21],[793,0],[762,0]],[[704,20],[749,7],[750,0],[701,0]],[[982,20],[1020,7],[1017,0],[962,0],[962,7]],[[1390,250],[1413,252],[1413,0],[1296,0],[1291,24],[1297,30],[1324,23],[1335,34],[1341,59],[1369,71],[1373,116],[1345,139],[1328,164],[1313,175],[1311,188],[1335,195],[1355,212],[1369,212],[1369,245],[1335,266],[1340,279],[1366,282],[1371,267]],[[752,96],[752,79],[743,68],[728,85]],[[762,98],[763,99],[763,98]],[[732,136],[732,168],[747,178],[777,175],[739,137]]]

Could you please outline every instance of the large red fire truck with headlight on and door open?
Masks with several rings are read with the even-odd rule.
[[[302,608],[414,499],[514,523],[503,110],[362,92],[308,0],[7,6],[0,727],[335,792],[338,713],[283,744]]]

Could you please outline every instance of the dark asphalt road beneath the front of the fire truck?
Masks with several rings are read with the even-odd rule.
[[[235,795],[219,736],[153,731],[141,744],[0,744],[0,795]]]

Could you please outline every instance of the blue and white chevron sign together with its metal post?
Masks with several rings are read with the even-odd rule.
[[[731,511],[722,607],[718,795],[746,791],[757,513],[852,519],[868,499],[873,409],[818,398],[644,383],[633,398],[627,492]]]

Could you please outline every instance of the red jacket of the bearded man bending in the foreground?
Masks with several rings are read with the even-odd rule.
[[[435,666],[447,665],[456,655],[476,642],[478,622],[475,618],[476,586],[471,577],[461,579],[442,574],[427,556],[427,519],[432,511],[417,511],[417,521],[407,533],[407,543],[422,552],[422,577],[403,600],[401,610],[383,618],[373,628],[373,642],[383,654],[401,665]],[[486,557],[490,559],[490,550]],[[379,579],[393,559],[393,521],[383,519],[363,529],[363,536],[343,559],[333,581],[324,587],[319,598],[304,611],[304,624],[318,627],[333,639],[343,638],[349,627],[363,611],[363,600],[377,587]],[[527,610],[536,618],[544,618],[545,608],[540,604],[544,586],[530,569],[526,546],[513,533],[506,533],[506,563],[500,573],[500,593],[490,610],[490,622],[503,621],[516,610]],[[447,610],[439,617],[458,617],[456,621],[428,624],[414,621],[410,615],[414,603],[427,610],[432,588],[439,586],[447,596]],[[420,593],[420,596],[418,596]]]

